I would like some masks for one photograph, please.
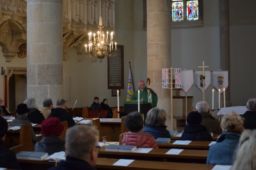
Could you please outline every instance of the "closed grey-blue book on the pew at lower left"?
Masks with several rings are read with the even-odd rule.
[[[27,152],[27,151],[20,151],[16,153],[17,159],[33,159],[33,160],[44,160],[48,157],[48,153],[46,152]]]

